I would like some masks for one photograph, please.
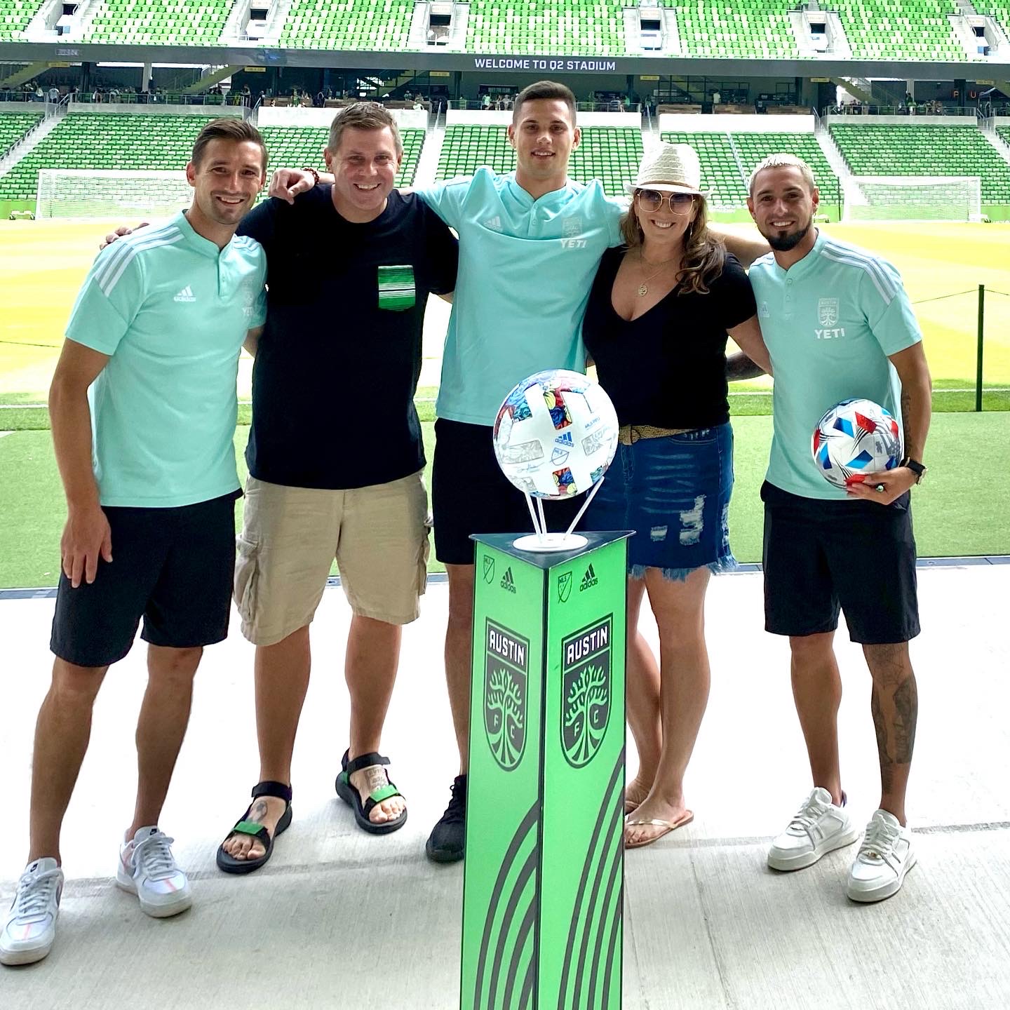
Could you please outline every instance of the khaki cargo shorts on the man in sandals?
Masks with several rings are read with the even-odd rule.
[[[348,491],[249,477],[235,563],[242,634],[273,645],[309,624],[334,558],[356,614],[389,624],[416,620],[430,529],[422,475]]]

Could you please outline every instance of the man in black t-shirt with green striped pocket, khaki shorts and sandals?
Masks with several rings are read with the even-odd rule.
[[[218,849],[248,873],[290,823],[291,754],[309,680],[309,624],[334,554],[354,617],[345,675],[348,751],[337,792],[359,826],[407,810],[379,753],[403,624],[418,615],[428,553],[424,448],[414,409],[429,293],[456,284],[457,241],[393,189],[403,146],[381,106],[333,121],[332,186],[270,200],[238,233],[267,250],[266,326],[255,349],[249,479],[235,603],[257,645],[261,783]]]

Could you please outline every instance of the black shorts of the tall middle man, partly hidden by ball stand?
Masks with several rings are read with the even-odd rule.
[[[491,427],[439,418],[431,467],[435,557],[443,565],[473,565],[471,533],[532,533],[526,498],[495,459]],[[585,497],[543,503],[547,529],[568,529]]]

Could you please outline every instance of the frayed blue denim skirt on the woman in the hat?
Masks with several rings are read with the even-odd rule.
[[[628,574],[646,568],[683,582],[699,568],[732,572],[729,497],[733,491],[733,429],[699,428],[666,438],[640,438],[617,454],[580,525],[633,529]]]

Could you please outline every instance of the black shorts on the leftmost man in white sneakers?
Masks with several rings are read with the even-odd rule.
[[[112,561],[74,589],[63,573],[49,648],[79,667],[121,660],[141,637],[192,648],[228,634],[239,492],[179,508],[106,508]]]

